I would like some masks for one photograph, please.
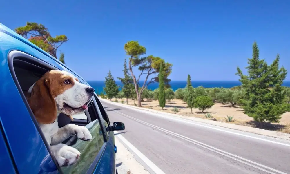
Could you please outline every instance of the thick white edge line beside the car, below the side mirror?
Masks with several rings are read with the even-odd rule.
[[[114,131],[115,134],[118,133],[118,131]],[[141,160],[143,160],[156,174],[165,174],[159,167],[157,167],[151,160],[149,160],[143,153],[141,153],[133,144],[128,142],[127,139],[125,139],[122,135],[117,134],[115,135],[119,137],[119,139],[126,144]]]

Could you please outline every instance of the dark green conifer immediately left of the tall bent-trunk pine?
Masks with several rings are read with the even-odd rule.
[[[123,84],[122,92],[124,93],[124,96],[126,97],[126,102],[128,104],[128,98],[132,97],[132,89],[135,89],[135,86],[134,86],[134,83],[133,83],[133,78],[128,72],[126,59],[125,59],[125,62],[124,62],[123,73],[124,73],[124,78],[120,78],[120,77],[117,77],[117,78]]]

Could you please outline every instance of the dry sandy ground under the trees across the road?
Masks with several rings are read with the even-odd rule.
[[[116,101],[115,98],[112,99],[113,102]],[[126,99],[117,99],[119,103],[126,104]],[[123,102],[122,102],[123,101]],[[128,104],[137,106],[137,100],[128,99]],[[187,115],[191,117],[199,117],[206,119],[205,114],[209,113],[212,115],[213,118],[217,119],[219,122],[226,122],[225,117],[233,116],[233,122],[229,122],[232,124],[239,124],[244,126],[251,126],[251,127],[260,127],[258,123],[254,122],[253,118],[249,117],[248,115],[243,113],[243,110],[237,106],[237,107],[230,107],[229,104],[220,104],[216,103],[212,108],[207,109],[204,111],[204,113],[201,113],[198,109],[192,109],[186,108],[187,104],[186,102],[183,102],[179,99],[173,99],[170,102],[166,101],[166,105],[164,107],[164,110],[160,108],[158,100],[146,100],[144,99],[144,102],[141,102],[142,107],[154,109],[154,110],[160,110],[168,113],[175,113],[173,111],[173,108],[178,108],[178,112],[176,114],[179,115]],[[269,129],[273,131],[280,131],[284,133],[290,133],[290,112],[284,113],[282,115],[282,118],[280,119],[280,123],[273,123],[273,124],[267,124],[263,127],[264,129]]]

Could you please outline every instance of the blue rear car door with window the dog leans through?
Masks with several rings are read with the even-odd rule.
[[[104,121],[102,117],[99,117],[100,111],[94,104],[95,99],[93,99],[88,110],[89,119],[86,122],[76,119],[70,123],[88,127],[93,136],[93,141],[84,142],[72,136],[65,143],[77,148],[82,154],[81,159],[73,166],[59,167],[57,165],[24,97],[24,92],[28,90],[27,87],[31,86],[34,83],[33,81],[39,78],[41,74],[52,69],[64,70],[56,68],[57,66],[61,67],[57,62],[50,62],[53,65],[57,64],[57,66],[53,66],[42,61],[41,59],[44,56],[39,54],[38,57],[33,57],[19,50],[10,50],[8,55],[13,85],[10,84],[9,90],[6,88],[6,94],[9,95],[12,91],[13,95],[10,99],[13,102],[10,99],[7,102],[11,106],[17,104],[17,110],[10,110],[9,114],[6,113],[8,116],[3,117],[3,128],[8,130],[7,137],[10,142],[10,149],[14,154],[13,157],[19,173],[74,173],[76,171],[77,173],[98,173],[99,171],[108,174],[115,173],[115,152],[108,142]],[[31,79],[29,78],[30,75]],[[77,75],[75,76],[77,77]],[[85,83],[81,78],[80,81]],[[11,119],[11,117],[17,117],[19,120]]]

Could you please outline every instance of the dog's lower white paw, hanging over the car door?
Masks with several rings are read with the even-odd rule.
[[[65,144],[50,146],[50,150],[61,167],[75,164],[81,155],[77,149]]]

